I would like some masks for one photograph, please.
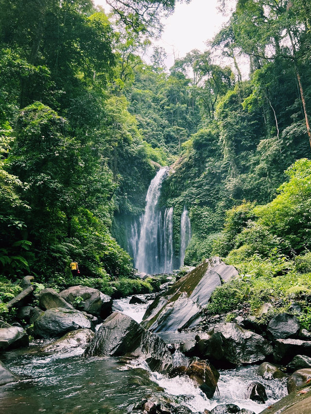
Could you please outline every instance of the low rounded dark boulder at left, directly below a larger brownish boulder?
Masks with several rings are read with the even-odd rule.
[[[82,312],[75,309],[52,308],[35,320],[34,333],[39,338],[54,338],[81,328],[91,328],[91,322]]]

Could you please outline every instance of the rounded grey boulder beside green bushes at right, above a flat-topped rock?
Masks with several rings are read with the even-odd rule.
[[[275,339],[287,339],[297,334],[299,321],[290,313],[279,313],[271,319],[267,329]]]

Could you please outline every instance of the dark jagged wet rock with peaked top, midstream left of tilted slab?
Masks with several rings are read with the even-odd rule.
[[[166,372],[172,355],[162,339],[141,327],[134,319],[113,312],[98,329],[85,356],[143,356],[152,371]]]

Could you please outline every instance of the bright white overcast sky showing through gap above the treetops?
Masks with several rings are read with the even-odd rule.
[[[105,0],[94,0],[95,4],[107,6]],[[205,50],[205,41],[212,39],[228,17],[217,10],[217,0],[191,0],[190,4],[177,3],[172,16],[163,20],[164,32],[156,45],[167,54],[167,66],[175,58],[183,57],[192,49]]]

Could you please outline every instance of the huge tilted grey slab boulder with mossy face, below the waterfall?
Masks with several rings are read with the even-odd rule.
[[[219,258],[208,259],[170,286],[147,308],[142,325],[153,332],[193,328],[217,286],[238,275]]]

